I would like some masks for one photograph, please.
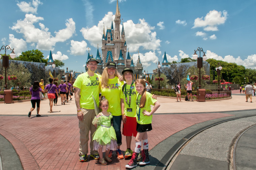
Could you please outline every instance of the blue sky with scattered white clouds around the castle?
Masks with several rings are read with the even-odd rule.
[[[207,58],[256,68],[255,0],[118,3],[129,52],[136,61],[139,50],[146,72],[163,61],[164,52],[169,62],[179,62],[192,57],[197,47]],[[116,0],[3,1],[0,42],[17,55],[39,49],[46,58],[52,50],[53,58],[65,63],[64,69],[85,72],[88,48],[96,56],[99,44],[101,52],[103,25],[105,30],[111,26],[116,4]]]

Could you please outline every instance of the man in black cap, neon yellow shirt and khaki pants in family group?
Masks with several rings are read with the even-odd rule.
[[[73,86],[75,87],[75,104],[77,108],[77,118],[79,120],[80,148],[79,161],[85,162],[88,154],[89,131],[90,135],[90,155],[94,159],[99,159],[97,150],[93,150],[92,135],[96,131],[96,127],[92,124],[95,117],[94,96],[99,106],[99,79],[100,75],[95,73],[99,62],[94,58],[87,61],[88,71],[77,76]]]

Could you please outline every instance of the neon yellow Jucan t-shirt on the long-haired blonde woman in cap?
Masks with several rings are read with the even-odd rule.
[[[121,113],[121,86],[124,84],[118,77],[108,79],[108,86],[102,87],[100,82],[101,96],[105,96],[108,100],[108,110],[113,116],[120,116]]]

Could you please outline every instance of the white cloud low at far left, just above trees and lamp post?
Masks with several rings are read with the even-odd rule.
[[[9,34],[9,42],[10,47],[14,48],[14,53],[16,54],[16,57],[20,56],[23,51],[27,49],[27,43],[22,38],[17,39],[14,38],[13,34]]]

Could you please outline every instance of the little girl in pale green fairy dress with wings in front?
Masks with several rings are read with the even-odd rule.
[[[112,159],[108,157],[109,150],[117,149],[117,137],[113,126],[111,126],[111,118],[113,117],[108,109],[108,101],[105,96],[101,97],[100,108],[102,111],[95,116],[92,124],[98,128],[93,134],[94,150],[98,150],[100,159],[99,163],[107,165],[107,162],[111,162]],[[102,152],[104,151],[103,146],[106,146],[105,157],[103,158]],[[107,162],[106,162],[107,161]]]

